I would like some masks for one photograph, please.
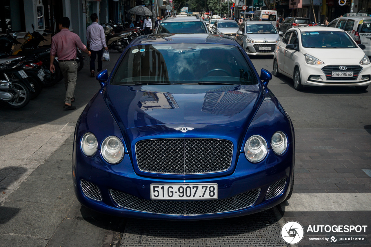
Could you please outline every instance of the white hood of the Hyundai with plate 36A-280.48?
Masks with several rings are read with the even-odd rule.
[[[358,62],[365,56],[365,53],[361,48],[345,48],[345,49],[323,49],[323,48],[304,48],[302,51],[303,54],[308,53],[309,55],[317,58],[317,59],[340,59],[342,63],[344,63],[345,59],[356,59]]]

